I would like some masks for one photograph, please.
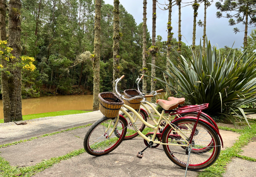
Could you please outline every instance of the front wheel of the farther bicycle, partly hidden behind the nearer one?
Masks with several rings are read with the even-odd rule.
[[[131,110],[127,109],[126,112],[128,112],[131,116],[133,116],[133,113]],[[146,113],[140,109],[140,116],[142,116],[142,118],[147,121],[147,116]],[[122,116],[124,116],[124,118],[127,120],[128,125],[127,125],[127,132],[126,132],[126,136],[124,137],[124,139],[132,139],[137,137],[139,134],[137,133],[137,131],[135,131],[132,122],[130,121],[130,119],[124,114],[121,114]],[[142,132],[145,128],[145,124],[142,123],[142,121],[140,121],[139,119],[136,120],[136,125],[138,126],[139,130]]]

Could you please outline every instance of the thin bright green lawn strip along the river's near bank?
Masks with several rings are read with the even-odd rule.
[[[88,113],[88,112],[91,112],[91,111],[65,110],[65,111],[57,111],[57,112],[50,112],[50,113],[23,115],[22,118],[23,120],[30,120],[30,119],[58,116],[58,115],[70,115],[70,114],[80,114],[80,113]],[[4,123],[4,119],[0,119],[0,123]]]

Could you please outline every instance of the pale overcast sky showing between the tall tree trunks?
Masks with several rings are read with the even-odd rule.
[[[126,8],[127,12],[133,15],[137,25],[143,22],[143,0],[119,0],[120,3]],[[182,0],[182,2],[190,2],[191,0]],[[158,0],[159,3],[165,4],[165,0]],[[166,0],[166,3],[168,1]],[[206,18],[206,35],[208,40],[211,41],[212,45],[218,44],[219,48],[225,45],[232,47],[234,41],[234,47],[240,48],[243,46],[244,32],[235,34],[233,32],[234,27],[238,27],[240,30],[244,30],[242,23],[236,24],[235,26],[228,25],[227,18],[216,18],[217,9],[215,7],[214,0],[213,4],[207,8]],[[105,4],[113,5],[113,0],[105,0]],[[186,4],[182,4],[184,6]],[[160,6],[162,9],[164,6]],[[188,44],[192,45],[193,36],[193,9],[191,6],[181,8],[181,34],[182,41],[188,41]],[[168,10],[161,10],[156,6],[156,35],[161,35],[163,40],[167,40],[167,22],[168,22]],[[152,0],[148,0],[147,4],[147,25],[150,35],[152,34]],[[204,4],[200,4],[198,9],[197,22],[201,19],[204,20]],[[172,6],[172,32],[174,38],[178,39],[178,6]],[[249,28],[248,35],[250,35],[252,28]],[[203,27],[196,27],[196,45],[199,45],[200,38],[203,36]],[[185,40],[186,38],[186,40]],[[217,47],[218,49],[218,47]]]

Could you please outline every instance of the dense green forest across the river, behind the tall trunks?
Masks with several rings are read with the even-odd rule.
[[[132,15],[119,6],[120,75],[125,74],[121,90],[134,87],[142,70],[143,29]],[[83,53],[94,51],[94,11],[92,0],[23,0],[21,8],[22,55],[35,58],[36,70],[22,74],[22,98],[46,95],[90,94],[93,90],[92,62]],[[6,11],[8,27],[8,11]],[[112,91],[113,76],[113,6],[102,1],[101,7],[100,92]],[[8,28],[6,28],[8,33]],[[152,39],[147,29],[147,48]],[[8,35],[7,35],[8,39]],[[176,38],[172,48],[178,49]],[[156,64],[166,67],[166,41],[156,37],[159,48]],[[198,47],[197,47],[198,48]],[[190,46],[182,42],[182,55],[192,55]],[[225,48],[220,50],[227,51]],[[235,49],[240,50],[240,49]],[[75,61],[79,61],[76,63]],[[151,63],[151,56],[147,57]],[[76,64],[76,65],[75,65]],[[148,74],[151,67],[148,66]],[[156,71],[161,77],[161,73]],[[163,76],[163,75],[162,75]],[[150,79],[147,80],[150,90]],[[161,87],[160,83],[156,87]]]

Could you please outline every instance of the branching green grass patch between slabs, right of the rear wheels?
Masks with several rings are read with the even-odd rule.
[[[256,137],[256,124],[252,124],[251,127],[252,129],[247,126],[242,130],[232,129],[229,127],[219,127],[220,130],[233,131],[240,133],[241,135],[232,147],[222,150],[217,161],[212,166],[204,169],[203,172],[200,172],[198,177],[222,177],[222,174],[225,173],[226,165],[234,157],[249,161],[256,161],[254,158],[249,158],[240,154],[242,152],[241,148],[247,145],[252,137]]]

